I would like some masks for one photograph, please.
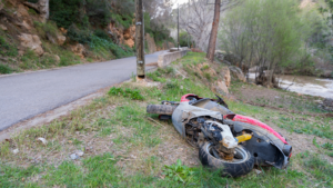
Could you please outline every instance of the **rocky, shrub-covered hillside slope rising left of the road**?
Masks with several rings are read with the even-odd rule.
[[[118,4],[105,9],[92,0],[51,0],[49,19],[44,19],[30,6],[34,2],[0,1],[0,73],[134,56],[132,10],[122,11]],[[147,53],[173,46],[168,37],[162,42],[149,33],[145,38]]]

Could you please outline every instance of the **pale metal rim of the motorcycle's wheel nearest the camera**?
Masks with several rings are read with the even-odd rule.
[[[215,149],[213,147],[212,144],[209,144],[206,146],[206,151],[210,156],[216,158],[218,160],[221,160],[223,162],[229,162],[229,164],[240,164],[240,162],[244,162],[246,159],[248,159],[248,154],[246,151],[241,148],[241,147],[236,147],[235,148],[235,155],[234,155],[234,158],[232,160],[224,160],[222,159],[221,157],[219,157],[215,152]],[[215,154],[214,154],[215,152]]]

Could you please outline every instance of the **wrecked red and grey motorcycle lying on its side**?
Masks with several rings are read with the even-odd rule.
[[[172,119],[175,129],[194,147],[203,166],[221,169],[222,176],[240,177],[253,166],[285,169],[292,147],[268,125],[228,109],[222,98],[185,95],[180,102],[149,105],[148,113]]]

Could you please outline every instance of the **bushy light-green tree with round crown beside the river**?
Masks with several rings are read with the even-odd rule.
[[[310,38],[296,0],[245,0],[229,11],[221,22],[221,49],[241,63],[268,67],[269,85],[273,73],[291,63]],[[300,61],[296,61],[300,62]]]

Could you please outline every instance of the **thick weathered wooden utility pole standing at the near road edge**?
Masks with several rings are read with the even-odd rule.
[[[137,76],[145,78],[143,0],[135,0]]]

